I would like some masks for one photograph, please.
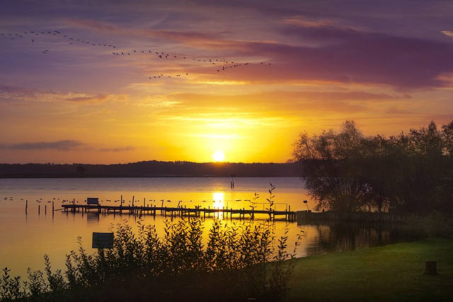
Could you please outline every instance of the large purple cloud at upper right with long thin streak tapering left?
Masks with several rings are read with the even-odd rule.
[[[209,69],[208,72],[226,79],[331,81],[414,89],[447,86],[450,82],[442,76],[453,72],[453,43],[447,39],[399,37],[342,27],[327,21],[283,22],[284,25],[278,28],[279,33],[295,39],[291,45],[231,40],[217,33],[125,29],[89,20],[72,21],[72,24],[103,32],[157,37],[199,50],[218,52],[234,57],[235,61],[260,57],[273,63],[272,69],[268,70],[263,70],[259,64],[222,74]]]

